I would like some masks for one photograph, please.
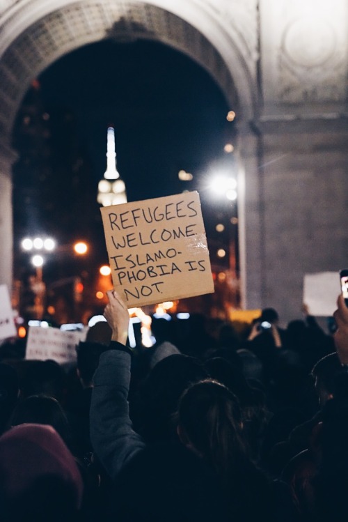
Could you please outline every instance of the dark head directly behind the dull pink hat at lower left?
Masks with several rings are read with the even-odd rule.
[[[19,401],[10,417],[10,426],[19,426],[20,424],[52,426],[65,444],[70,441],[68,418],[61,405],[53,397],[32,395]]]

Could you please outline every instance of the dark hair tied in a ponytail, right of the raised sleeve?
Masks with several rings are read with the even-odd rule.
[[[193,447],[228,484],[235,463],[245,454],[235,395],[211,379],[193,384],[182,394],[178,420]]]

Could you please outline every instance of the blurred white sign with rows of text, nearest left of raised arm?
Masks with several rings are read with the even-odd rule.
[[[66,331],[59,328],[29,326],[26,359],[52,359],[59,364],[75,362],[76,346],[86,339],[86,330]]]

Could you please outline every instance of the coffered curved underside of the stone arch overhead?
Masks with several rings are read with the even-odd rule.
[[[157,40],[187,54],[205,68],[237,106],[230,72],[219,52],[193,26],[156,6],[132,2],[77,2],[29,26],[0,62],[0,135],[8,142],[15,115],[35,76],[61,56],[105,38]]]

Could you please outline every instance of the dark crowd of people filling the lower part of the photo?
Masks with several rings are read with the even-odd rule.
[[[5,522],[343,522],[348,519],[348,308],[280,328],[199,314],[152,319],[151,348],[106,322],[77,362],[0,345]],[[180,327],[180,328],[179,328]]]

